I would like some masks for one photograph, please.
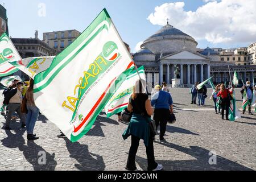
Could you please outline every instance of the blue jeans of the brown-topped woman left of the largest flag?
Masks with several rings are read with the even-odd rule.
[[[36,106],[27,105],[26,129],[27,134],[33,134],[35,122],[38,120],[39,109]]]

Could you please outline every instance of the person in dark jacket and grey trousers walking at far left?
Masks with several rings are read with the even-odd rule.
[[[18,82],[15,88],[11,89],[5,96],[5,104],[7,104],[7,108],[9,110],[6,122],[5,122],[5,130],[10,129],[11,116],[15,113],[19,115],[20,121],[22,123],[22,128],[26,126],[26,121],[24,115],[21,113],[20,106],[22,102],[22,82]]]

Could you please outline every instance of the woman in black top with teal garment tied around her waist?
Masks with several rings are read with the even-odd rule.
[[[128,128],[123,133],[123,139],[131,136],[131,147],[127,159],[126,169],[136,170],[135,156],[139,147],[139,140],[144,140],[147,153],[148,171],[159,171],[163,169],[161,164],[155,162],[154,145],[149,123],[154,110],[146,94],[146,81],[138,80],[135,83],[133,94],[130,97],[128,110],[133,113]]]

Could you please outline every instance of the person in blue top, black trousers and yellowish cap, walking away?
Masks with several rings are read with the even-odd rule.
[[[170,113],[173,113],[172,109],[172,97],[168,92],[161,90],[160,85],[155,86],[156,93],[152,97],[151,105],[154,107],[154,119],[156,129],[160,125],[160,142],[164,142],[164,134],[166,133],[167,118]]]

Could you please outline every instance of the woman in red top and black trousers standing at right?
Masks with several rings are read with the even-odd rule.
[[[224,84],[221,84],[220,92],[218,92],[217,97],[221,97],[221,115],[222,119],[224,119],[224,110],[226,110],[226,120],[229,120],[229,94],[233,94],[233,88],[229,90],[225,88]]]

